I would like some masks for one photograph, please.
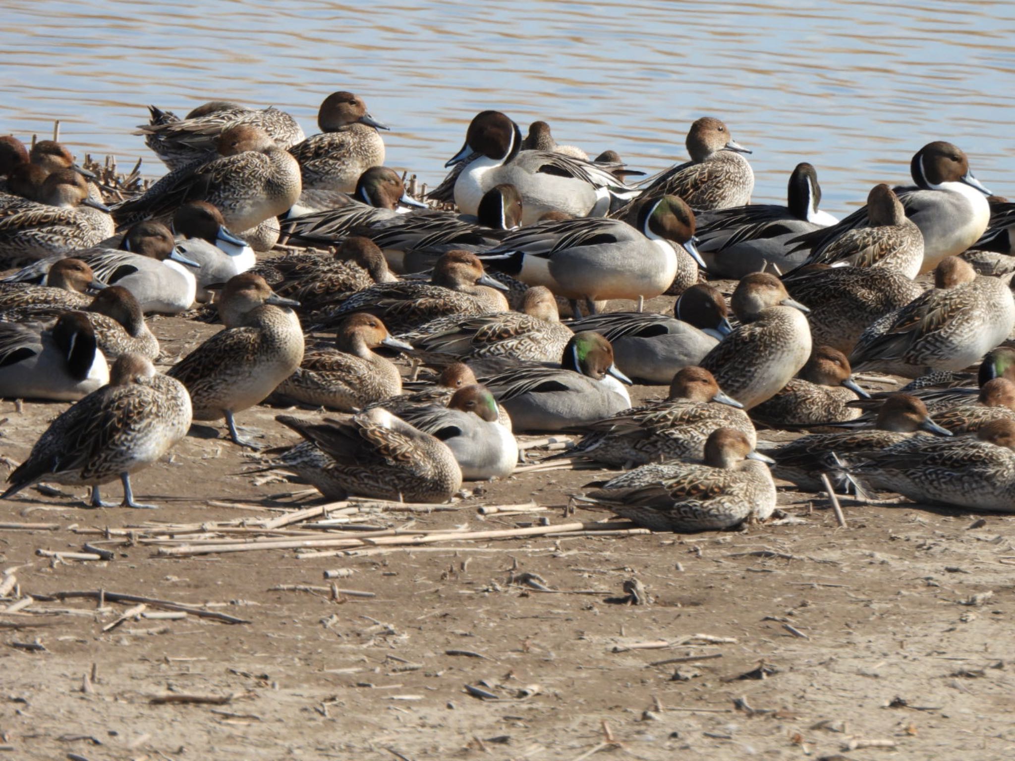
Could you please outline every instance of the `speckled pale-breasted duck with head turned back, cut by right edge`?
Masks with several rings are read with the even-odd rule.
[[[927,369],[960,370],[1000,345],[1015,325],[1011,275],[977,277],[956,257],[936,270],[936,287],[897,313],[872,325],[860,337],[850,362],[917,377]],[[960,284],[953,287],[942,279]]]

